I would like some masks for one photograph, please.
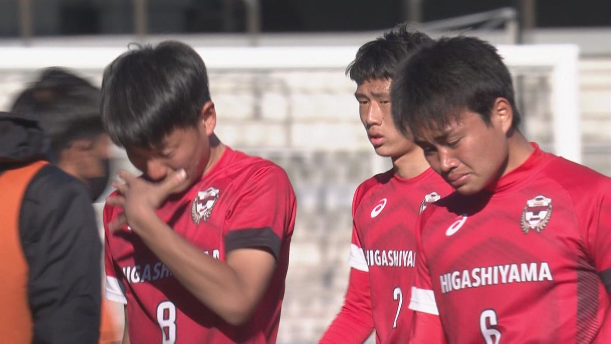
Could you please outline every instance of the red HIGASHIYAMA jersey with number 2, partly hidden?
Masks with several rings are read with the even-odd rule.
[[[350,266],[368,272],[376,342],[408,338],[413,312],[415,223],[426,206],[447,196],[452,187],[428,168],[403,179],[392,170],[359,185],[353,201]]]

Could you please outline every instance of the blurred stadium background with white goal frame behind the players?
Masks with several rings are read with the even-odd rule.
[[[295,187],[298,220],[278,342],[312,343],[345,292],[352,193],[390,166],[373,153],[357,116],[355,86],[343,73],[356,49],[396,23],[417,20],[416,28],[434,37],[560,45],[569,58],[578,51],[574,78],[560,82],[549,65],[508,61],[523,130],[551,151],[576,133],[569,141],[579,148],[573,159],[611,176],[611,4],[574,6],[568,0],[0,0],[0,110],[42,67],[69,67],[100,84],[103,66],[130,42],[172,38],[197,47],[209,62],[221,140],[279,163]],[[206,56],[244,51],[249,54],[233,62],[210,63],[214,56]],[[555,121],[570,121],[554,113],[559,87],[574,90],[578,121],[570,133],[554,130]],[[118,148],[112,162],[113,170],[131,168]],[[101,203],[95,206],[99,211]]]

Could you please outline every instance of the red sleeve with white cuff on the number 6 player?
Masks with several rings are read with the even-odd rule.
[[[426,213],[425,213],[426,214]],[[429,313],[439,315],[435,295],[433,293],[433,283],[431,276],[426,266],[426,257],[423,252],[422,245],[422,226],[423,216],[420,215],[416,225],[416,242],[417,242],[417,258],[416,258],[416,274],[414,286],[412,286],[412,296],[409,301],[409,309],[415,312]]]

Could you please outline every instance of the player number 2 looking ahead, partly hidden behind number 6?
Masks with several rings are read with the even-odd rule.
[[[321,343],[398,343],[411,329],[408,309],[414,277],[417,215],[452,188],[424,159],[422,149],[401,135],[390,114],[390,84],[401,59],[430,42],[401,24],[365,43],[346,73],[356,81],[359,114],[376,154],[392,168],[359,185],[353,200],[350,277],[345,301]]]

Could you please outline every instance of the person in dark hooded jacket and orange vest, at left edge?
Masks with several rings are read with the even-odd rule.
[[[100,237],[81,182],[46,162],[32,114],[0,113],[4,343],[96,343]]]

